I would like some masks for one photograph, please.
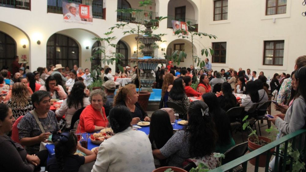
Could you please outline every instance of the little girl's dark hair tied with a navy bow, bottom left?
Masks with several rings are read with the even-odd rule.
[[[55,147],[54,147],[54,152],[55,152],[55,158],[57,160],[57,163],[59,165],[59,170],[60,171],[65,171],[63,170],[64,168],[64,158],[65,156],[72,155],[74,152],[76,152],[76,146],[77,146],[77,138],[76,135],[73,133],[63,133],[65,136],[61,137],[66,137],[68,134],[68,138],[63,138],[57,142],[55,142]]]

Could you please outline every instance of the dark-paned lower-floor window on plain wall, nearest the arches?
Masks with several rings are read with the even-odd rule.
[[[226,63],[226,42],[213,42],[212,63]]]

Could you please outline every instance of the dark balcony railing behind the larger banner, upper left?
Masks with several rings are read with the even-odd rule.
[[[0,0],[1,1],[1,0]],[[91,5],[92,7],[92,17],[98,19],[105,19],[105,13],[103,14],[103,0],[69,0],[68,2],[74,2],[77,4]],[[48,13],[63,13],[62,0],[48,0],[47,5]]]

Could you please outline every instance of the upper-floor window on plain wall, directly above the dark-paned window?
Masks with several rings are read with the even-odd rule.
[[[214,21],[227,20],[227,0],[214,1]]]

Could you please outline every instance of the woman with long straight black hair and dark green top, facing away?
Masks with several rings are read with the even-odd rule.
[[[235,146],[230,128],[230,119],[220,107],[215,93],[203,94],[202,98],[209,108],[209,113],[215,122],[218,133],[217,145],[214,152],[225,153],[231,147]]]

